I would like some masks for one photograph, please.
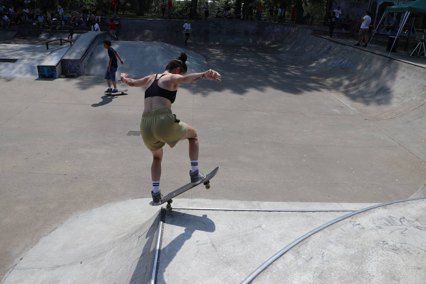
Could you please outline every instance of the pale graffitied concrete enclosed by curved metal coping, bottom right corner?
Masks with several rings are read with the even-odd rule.
[[[319,229],[251,283],[425,283],[426,199],[371,208]]]

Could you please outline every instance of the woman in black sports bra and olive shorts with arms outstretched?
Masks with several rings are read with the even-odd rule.
[[[179,84],[191,83],[201,78],[221,81],[220,74],[212,69],[202,73],[185,75],[187,55],[181,53],[179,57],[170,61],[162,74],[154,74],[138,80],[130,79],[126,73],[121,73],[121,80],[131,87],[147,86],[145,89],[145,108],[141,119],[141,135],[148,149],[153,153],[151,178],[153,181],[153,205],[160,204],[160,177],[162,147],[167,143],[173,148],[178,141],[188,139],[189,157],[191,160],[191,183],[199,184],[205,175],[198,169],[198,137],[193,127],[181,122],[172,114],[172,103],[176,99]]]

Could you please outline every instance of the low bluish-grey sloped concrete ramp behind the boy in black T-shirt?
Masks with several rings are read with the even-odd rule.
[[[113,41],[112,48],[124,61],[124,65],[118,62],[117,77],[121,72],[129,74],[130,77],[145,77],[162,73],[167,63],[178,57],[181,52],[185,52],[188,56],[187,73],[207,70],[207,61],[203,56],[167,43]],[[104,46],[96,46],[84,74],[103,76],[108,67],[108,60],[108,52]]]

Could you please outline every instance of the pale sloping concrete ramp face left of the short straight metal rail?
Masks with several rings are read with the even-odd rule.
[[[69,219],[23,256],[4,283],[148,283],[159,207],[140,207],[140,200],[120,202]]]

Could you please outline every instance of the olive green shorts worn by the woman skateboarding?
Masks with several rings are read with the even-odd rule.
[[[171,109],[155,109],[142,114],[141,135],[151,151],[157,151],[166,143],[173,148],[187,130],[188,125],[178,120]]]

